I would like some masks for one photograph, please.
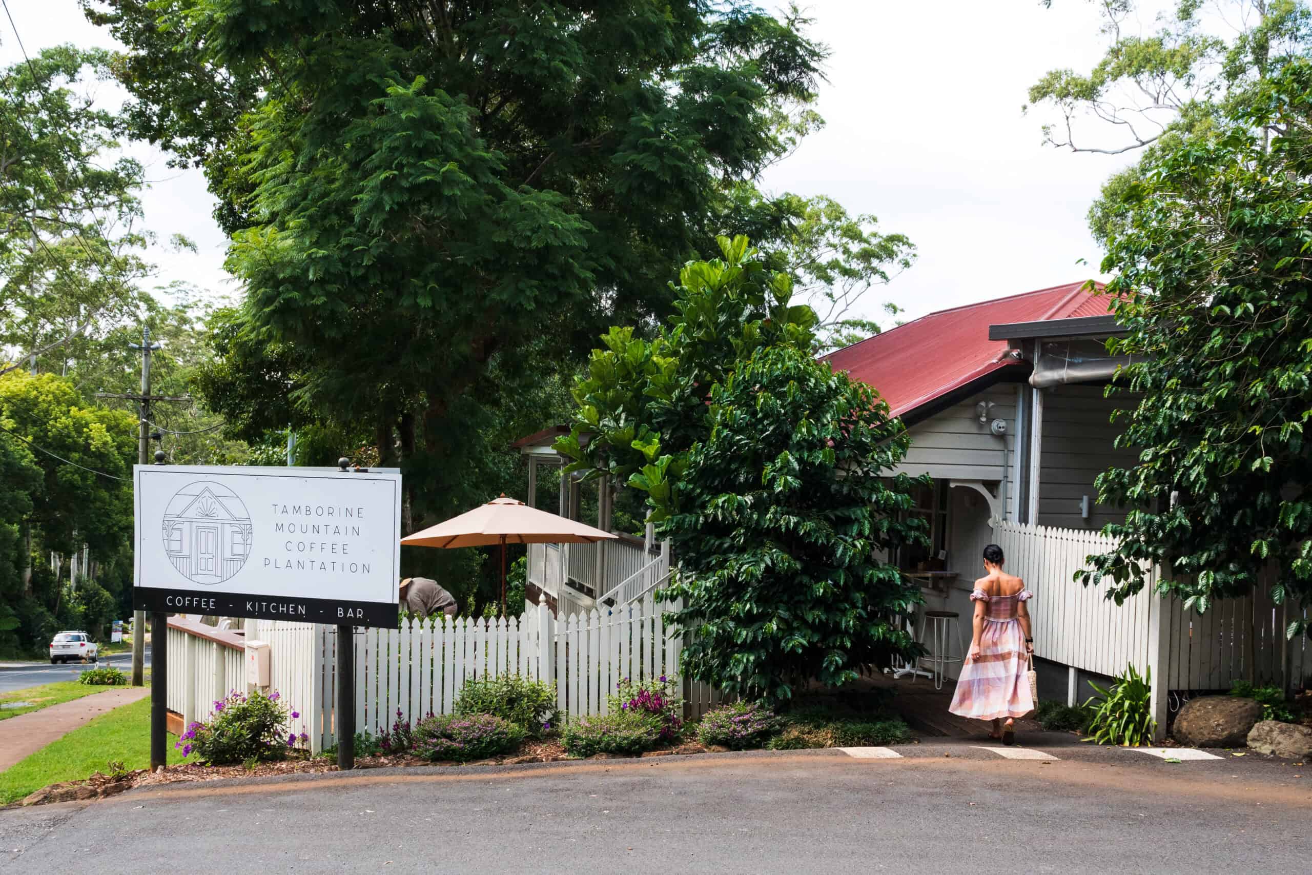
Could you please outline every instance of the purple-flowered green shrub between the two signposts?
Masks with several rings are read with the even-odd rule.
[[[173,745],[182,756],[215,766],[282,760],[287,750],[310,737],[287,731],[289,720],[300,716],[279,701],[277,691],[231,693],[214,703],[209,723],[193,723]]]

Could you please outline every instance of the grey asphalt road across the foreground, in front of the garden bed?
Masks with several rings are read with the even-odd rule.
[[[0,812],[0,871],[1267,875],[1312,859],[1312,770],[1288,762],[954,750],[142,787]]]

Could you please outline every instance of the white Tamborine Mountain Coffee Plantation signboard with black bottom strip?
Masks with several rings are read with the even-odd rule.
[[[136,466],[134,605],[395,626],[401,478]]]

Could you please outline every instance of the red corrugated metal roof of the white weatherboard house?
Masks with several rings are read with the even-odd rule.
[[[1072,282],[941,310],[834,350],[825,361],[874,386],[893,416],[905,416],[971,380],[1023,366],[1014,359],[998,361],[1006,342],[991,341],[989,325],[1107,315],[1109,299],[1084,285]]]

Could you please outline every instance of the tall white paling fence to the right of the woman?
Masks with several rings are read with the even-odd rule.
[[[1151,668],[1158,729],[1168,708],[1190,693],[1228,690],[1249,677],[1295,689],[1312,676],[1312,641],[1284,635],[1300,609],[1275,605],[1265,580],[1250,596],[1218,601],[1198,614],[1178,598],[1157,596],[1158,569],[1151,569],[1144,589],[1118,606],[1106,598],[1105,584],[1073,580],[1086,556],[1113,550],[1111,538],[997,519],[993,537],[1006,554],[1006,569],[1035,594],[1029,602],[1035,653],[1107,676],[1127,665]]]

